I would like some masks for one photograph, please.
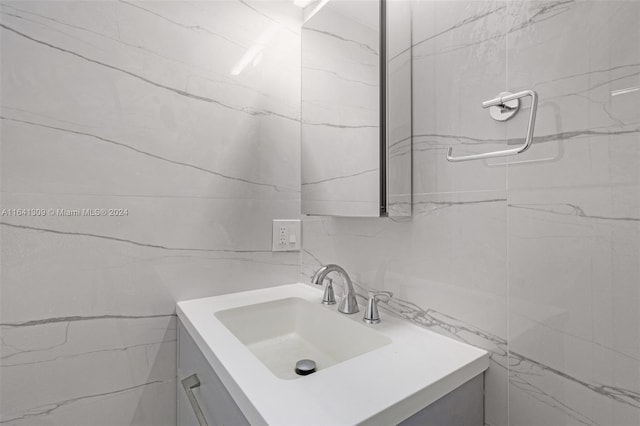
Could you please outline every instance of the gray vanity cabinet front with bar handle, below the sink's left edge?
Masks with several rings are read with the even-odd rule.
[[[178,426],[199,426],[182,381],[195,374],[200,386],[192,390],[208,426],[245,426],[240,411],[182,323],[178,321]]]

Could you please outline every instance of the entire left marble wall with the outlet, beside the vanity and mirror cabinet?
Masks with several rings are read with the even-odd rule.
[[[0,13],[0,423],[174,425],[175,302],[299,277],[301,9]]]

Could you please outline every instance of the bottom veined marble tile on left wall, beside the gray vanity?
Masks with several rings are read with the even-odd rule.
[[[2,337],[3,423],[79,424],[82,415],[102,415],[91,424],[104,425],[175,421],[172,315],[3,322]],[[119,400],[121,408],[112,412],[96,408],[119,396],[131,400],[135,394],[140,407]]]

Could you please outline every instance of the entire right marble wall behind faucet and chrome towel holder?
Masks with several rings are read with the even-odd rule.
[[[302,279],[486,348],[487,425],[640,424],[640,2],[413,3],[411,219],[306,217]],[[480,107],[540,94],[497,123]],[[338,287],[338,286],[337,286]]]

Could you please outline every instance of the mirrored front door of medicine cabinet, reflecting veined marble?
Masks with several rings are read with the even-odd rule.
[[[304,213],[380,215],[379,26],[377,2],[343,0],[302,28]]]

